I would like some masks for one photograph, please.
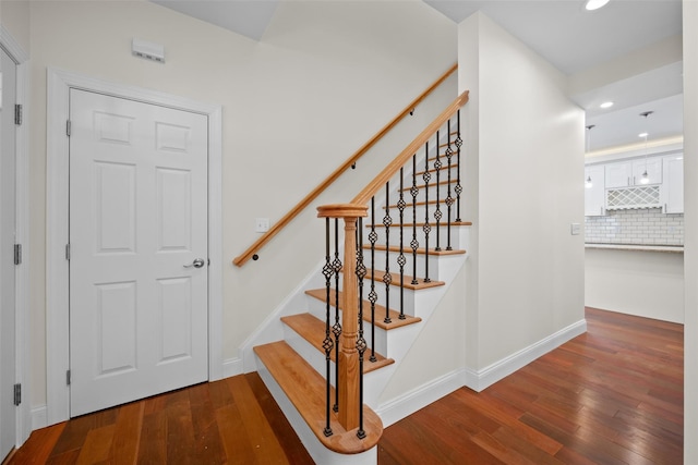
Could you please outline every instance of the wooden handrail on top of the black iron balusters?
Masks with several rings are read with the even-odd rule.
[[[363,191],[361,191],[359,195],[353,198],[353,200],[351,200],[351,204],[366,205],[369,200],[371,200],[371,197],[373,197],[383,186],[385,186],[385,183],[387,183],[390,178],[393,178],[393,175],[397,173],[398,170],[405,166],[405,163],[407,163],[410,157],[412,157],[412,155],[414,155],[419,150],[419,148],[422,147],[426,143],[426,140],[429,140],[430,137],[436,133],[436,130],[438,130],[446,121],[448,121],[448,119],[453,117],[454,113],[456,113],[456,111],[458,111],[460,107],[462,107],[467,102],[468,90],[460,94],[458,98],[456,98],[448,107],[446,107],[446,109],[434,121],[432,121],[431,124],[426,126],[424,131],[422,131],[414,138],[414,140],[412,140],[410,145],[408,145],[407,148],[405,148],[405,150],[400,152],[400,155],[398,155],[393,161],[390,161],[390,163],[385,167],[385,169],[383,169],[383,171],[381,171],[381,173],[375,176],[373,181],[371,181],[369,185],[366,185]]]

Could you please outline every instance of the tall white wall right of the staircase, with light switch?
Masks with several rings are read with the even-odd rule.
[[[566,78],[482,13],[458,26],[466,107],[467,366],[583,320],[583,112]]]

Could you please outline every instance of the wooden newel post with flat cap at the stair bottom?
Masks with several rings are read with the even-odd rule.
[[[345,221],[342,315],[339,339],[339,412],[338,419],[347,430],[359,427],[359,290],[357,278],[357,221],[368,216],[365,205],[338,204],[317,208],[318,218],[341,218]]]

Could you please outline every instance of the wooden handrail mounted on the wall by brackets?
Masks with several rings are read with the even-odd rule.
[[[458,69],[458,63],[454,64],[446,71],[438,79],[434,81],[434,83],[426,88],[419,97],[412,100],[405,109],[395,117],[389,123],[387,123],[381,131],[378,131],[369,142],[359,148],[347,161],[345,161],[339,168],[337,168],[325,181],[320,183],[317,187],[315,187],[310,194],[308,194],[301,201],[299,201],[296,207],[291,208],[291,210],[286,213],[279,221],[277,221],[267,232],[265,232],[260,238],[257,238],[254,244],[252,244],[242,255],[236,257],[232,260],[233,265],[238,267],[243,266],[254,254],[256,254],[264,245],[272,241],[272,238],[278,234],[288,223],[293,220],[301,211],[305,209],[315,198],[320,196],[330,184],[333,184],[337,179],[347,171],[353,163],[356,163],[371,147],[373,147],[381,138],[387,134],[393,127],[397,125],[407,114],[414,109],[422,100],[424,100],[436,87],[438,87],[448,76],[450,76]]]

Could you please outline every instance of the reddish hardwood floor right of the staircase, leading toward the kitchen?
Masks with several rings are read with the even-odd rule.
[[[378,463],[683,463],[683,326],[587,309],[588,332],[386,428]]]

